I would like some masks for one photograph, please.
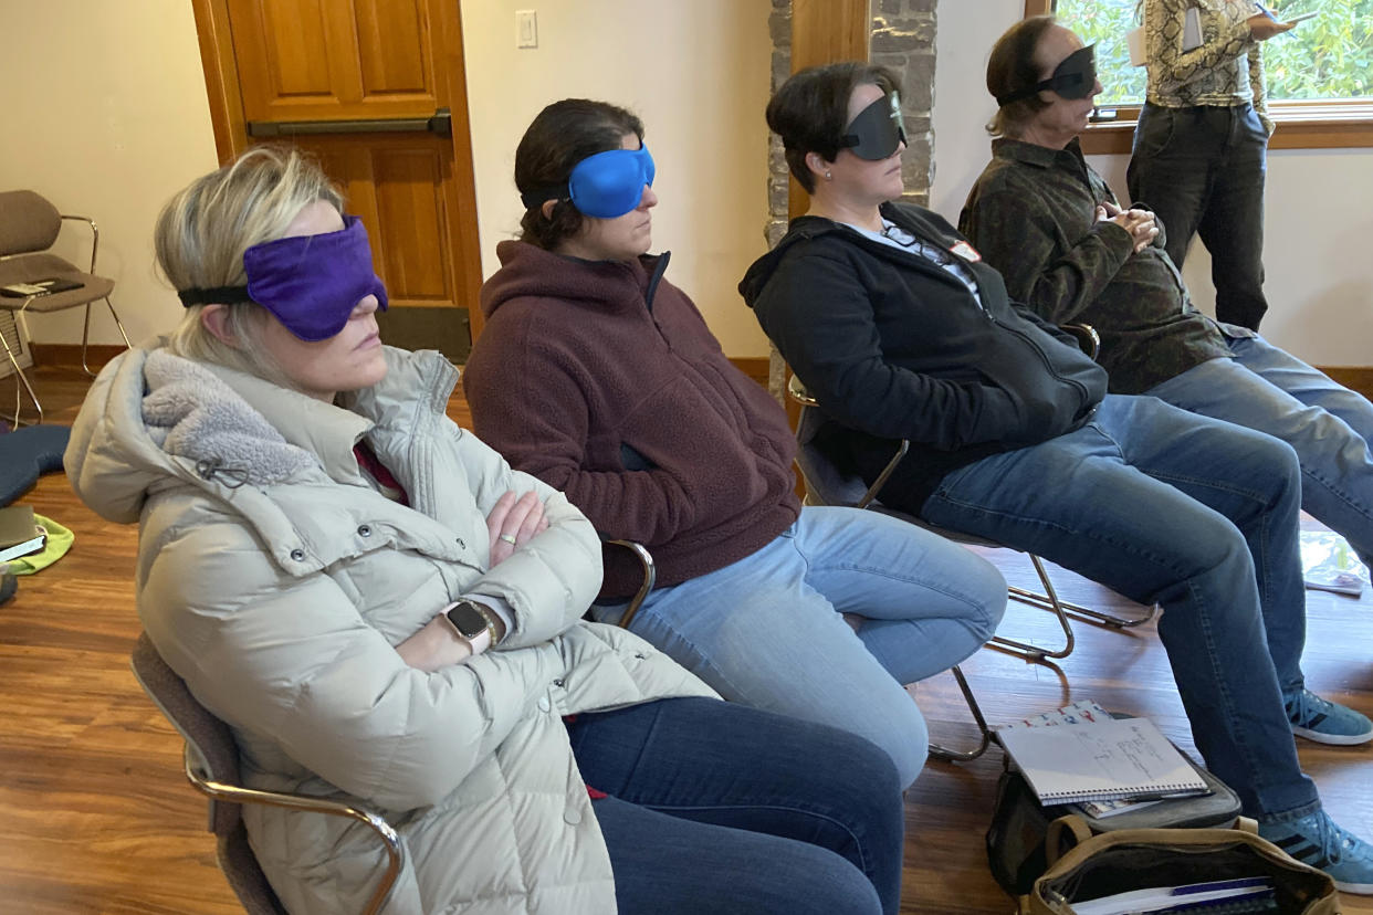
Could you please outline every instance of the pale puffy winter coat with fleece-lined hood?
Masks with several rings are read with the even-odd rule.
[[[157,348],[92,385],[66,454],[77,494],[141,521],[143,626],[233,727],[249,785],[369,807],[409,863],[389,912],[615,911],[604,841],[562,716],[710,690],[629,632],[581,620],[600,586],[590,524],[443,410],[457,372],[389,350],[341,409]],[[378,494],[365,438],[413,508]],[[538,490],[549,528],[489,568],[486,513]],[[515,626],[467,664],[393,649],[461,594]],[[384,868],[367,827],[246,808],[292,912],[357,911]]]

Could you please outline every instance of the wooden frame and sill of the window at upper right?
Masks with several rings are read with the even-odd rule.
[[[1026,16],[1053,12],[1057,0],[1026,0]],[[1082,134],[1086,154],[1130,152],[1140,106],[1114,108],[1115,117],[1093,121]],[[1302,99],[1269,102],[1269,117],[1277,125],[1269,139],[1271,150],[1335,150],[1373,147],[1373,100],[1336,102]]]

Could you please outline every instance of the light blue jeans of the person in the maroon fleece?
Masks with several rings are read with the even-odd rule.
[[[630,628],[732,702],[868,738],[910,785],[930,735],[902,685],[976,652],[1005,605],[1001,573],[957,543],[807,506],[752,556],[652,591]],[[615,623],[623,604],[592,610]],[[864,617],[857,634],[842,613]]]

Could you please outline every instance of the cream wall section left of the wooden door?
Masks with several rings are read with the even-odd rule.
[[[181,306],[152,273],[152,224],[176,191],[217,165],[191,4],[184,0],[0,0],[0,189],[27,188],[100,226],[97,272],[136,342]],[[89,265],[89,230],[58,252]],[[37,343],[80,343],[81,309],[32,316]],[[97,305],[93,343],[122,343]]]

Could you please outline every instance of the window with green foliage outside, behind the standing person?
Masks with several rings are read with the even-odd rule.
[[[1082,139],[1087,152],[1129,152],[1145,70],[1130,66],[1124,36],[1138,0],[1026,0],[1026,15],[1054,11],[1097,44],[1105,88],[1100,117]],[[1273,148],[1373,147],[1373,0],[1273,0],[1276,11],[1317,12],[1263,47]]]

